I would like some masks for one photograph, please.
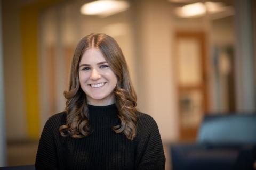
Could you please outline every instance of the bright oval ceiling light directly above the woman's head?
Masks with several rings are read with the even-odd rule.
[[[129,3],[126,1],[98,0],[84,4],[81,7],[80,12],[84,15],[106,17],[126,11],[128,8]]]

